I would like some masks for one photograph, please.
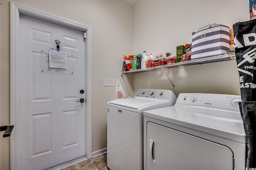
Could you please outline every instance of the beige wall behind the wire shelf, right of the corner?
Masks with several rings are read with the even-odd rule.
[[[192,42],[192,32],[208,24],[232,28],[249,20],[249,1],[142,0],[134,7],[134,52],[176,54],[176,46]],[[168,69],[174,93],[240,95],[236,61]],[[162,70],[134,74],[134,93],[141,88],[171,89]]]

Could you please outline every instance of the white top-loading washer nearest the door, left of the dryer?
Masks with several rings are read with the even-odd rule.
[[[108,102],[107,166],[110,170],[143,170],[143,112],[174,105],[170,90],[140,89],[133,98]]]

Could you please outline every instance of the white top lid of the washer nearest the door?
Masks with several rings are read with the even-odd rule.
[[[148,105],[156,105],[159,103],[166,103],[166,102],[170,103],[170,101],[159,100],[159,99],[132,97],[132,98],[126,98],[126,99],[116,99],[113,101],[109,101],[108,103],[138,110],[139,108],[142,108]]]

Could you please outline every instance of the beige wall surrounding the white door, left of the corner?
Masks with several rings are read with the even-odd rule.
[[[119,73],[123,55],[133,50],[132,6],[120,0],[13,1],[92,28],[92,151],[106,148],[107,101],[114,99],[116,87],[104,87],[103,79],[120,79],[127,95],[133,93],[132,77],[125,79],[125,85]],[[10,0],[2,0],[0,12],[0,125],[3,126],[10,125]],[[8,170],[10,138],[0,137],[0,148],[0,169]]]

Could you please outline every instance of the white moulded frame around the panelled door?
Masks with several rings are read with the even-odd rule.
[[[27,6],[10,2],[10,124],[14,125],[10,138],[10,168],[20,170],[20,105],[19,105],[19,21],[20,14],[81,32],[86,32],[86,156],[92,158],[92,28]]]

